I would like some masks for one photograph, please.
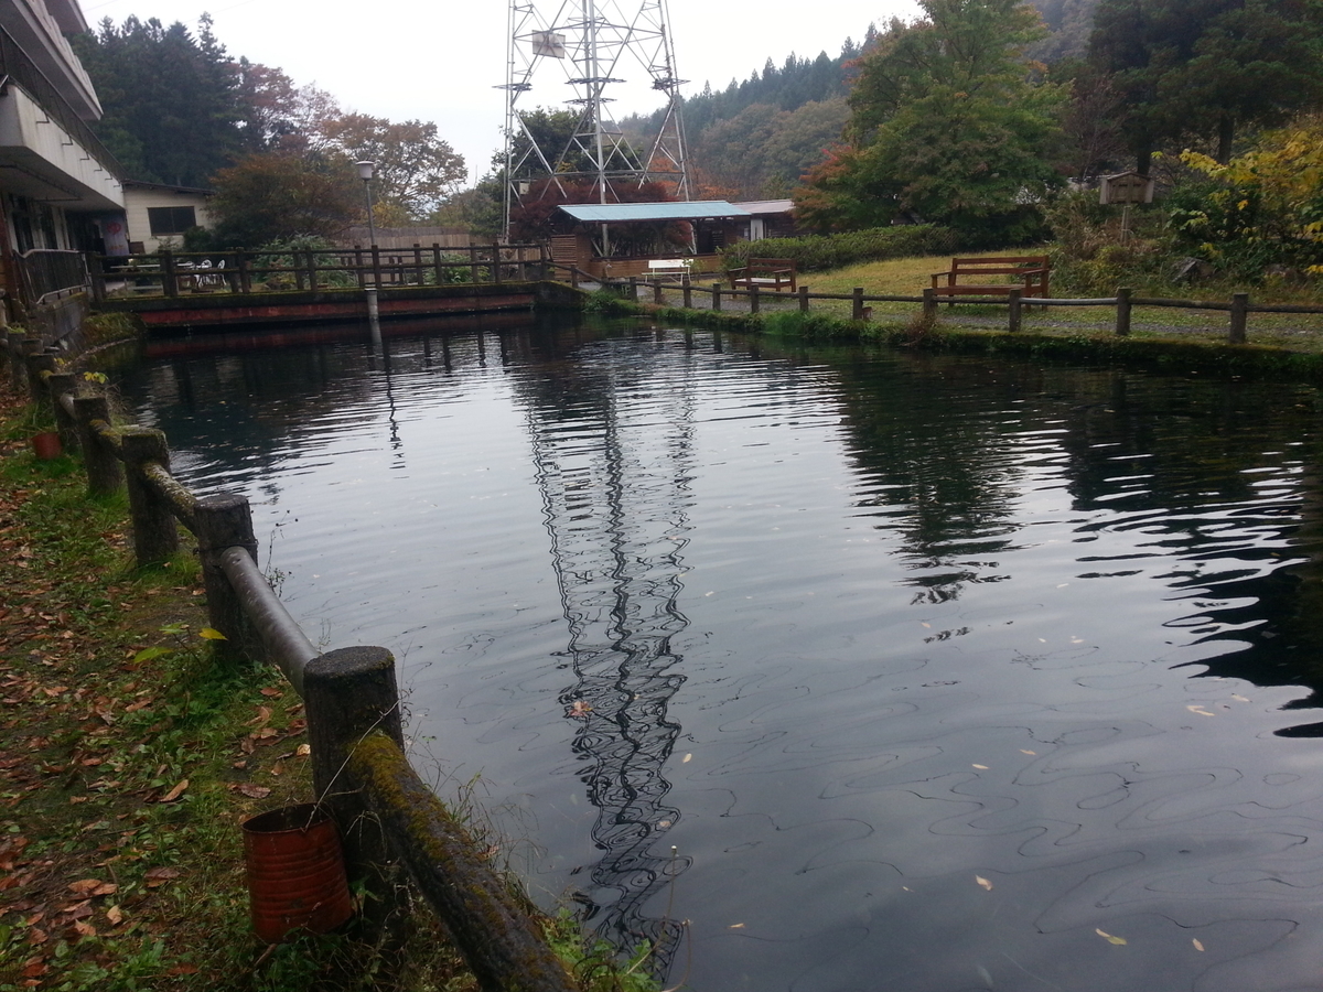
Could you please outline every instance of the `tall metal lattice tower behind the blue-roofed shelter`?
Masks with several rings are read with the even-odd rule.
[[[619,86],[647,82],[664,99],[662,126],[635,147],[610,104]],[[536,82],[536,87],[534,87]],[[538,180],[564,193],[590,181],[598,202],[615,202],[627,184],[662,181],[689,198],[675,45],[665,0],[511,0],[505,75],[505,231],[509,212]],[[549,83],[544,86],[542,83]],[[554,86],[560,83],[560,89]],[[565,86],[570,97],[565,97]],[[538,134],[533,94],[577,114],[573,132]],[[554,144],[556,147],[546,147]]]

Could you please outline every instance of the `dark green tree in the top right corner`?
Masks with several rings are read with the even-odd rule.
[[[1228,161],[1246,124],[1323,99],[1323,7],[1314,0],[1102,0],[1089,57],[1129,104],[1138,169],[1189,138]]]

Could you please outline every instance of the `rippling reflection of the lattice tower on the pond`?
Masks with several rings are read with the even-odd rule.
[[[688,542],[693,415],[688,389],[632,406],[646,358],[525,384],[528,434],[542,491],[552,559],[569,623],[574,684],[561,693],[582,726],[573,750],[598,808],[593,843],[603,853],[576,898],[583,917],[624,948],[647,940],[659,975],[681,926],[647,918],[643,905],[687,858],[662,839],[680,819],[665,803],[663,767],[680,726],[667,705],[684,684],[672,639]],[[536,386],[532,388],[532,386]]]

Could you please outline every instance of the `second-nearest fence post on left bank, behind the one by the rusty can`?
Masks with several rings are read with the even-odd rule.
[[[262,639],[255,636],[243,603],[221,567],[221,552],[228,548],[242,548],[257,562],[257,538],[253,536],[253,512],[247,497],[221,493],[200,499],[193,511],[193,533],[206,587],[206,618],[225,635],[217,647],[228,656],[246,655],[253,661],[265,661]]]

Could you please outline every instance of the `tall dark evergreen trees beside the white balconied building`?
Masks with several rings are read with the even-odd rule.
[[[237,71],[209,17],[196,36],[177,21],[107,17],[74,46],[105,110],[94,130],[135,179],[204,186],[239,152]]]

